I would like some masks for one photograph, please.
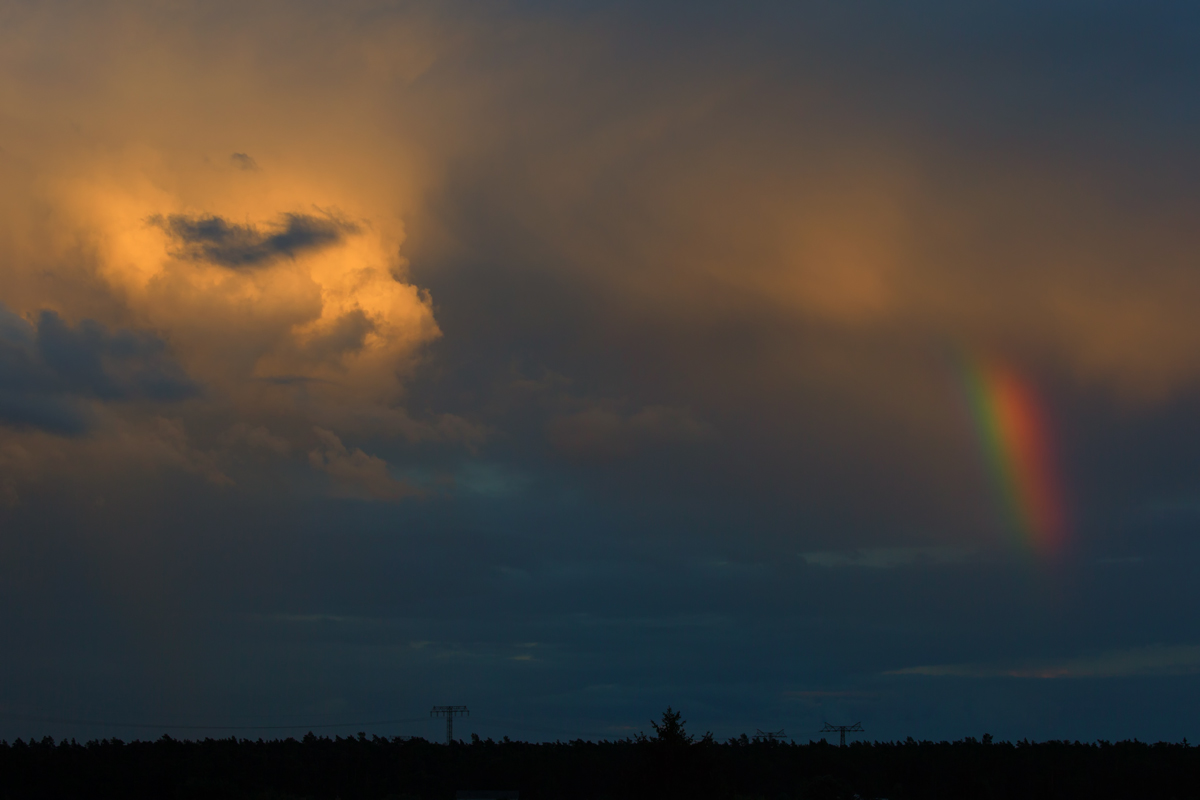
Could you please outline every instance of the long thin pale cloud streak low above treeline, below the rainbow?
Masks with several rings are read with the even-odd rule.
[[[931,678],[1060,679],[1190,675],[1198,672],[1200,672],[1200,646],[1156,644],[1060,661],[931,664],[894,669],[884,674]]]

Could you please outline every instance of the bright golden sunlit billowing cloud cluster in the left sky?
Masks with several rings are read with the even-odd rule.
[[[112,439],[119,457],[119,429],[155,439],[167,420],[214,464],[248,440],[300,458],[338,441],[330,429],[478,439],[476,426],[416,420],[402,404],[406,374],[440,332],[401,253],[421,191],[412,148],[379,127],[395,119],[391,82],[428,46],[352,54],[283,6],[239,14],[245,26],[180,6],[184,28],[149,6],[72,7],[66,26],[49,7],[5,12],[0,300],[13,348],[36,344],[59,383],[91,383],[42,402],[25,386],[32,367],[12,366],[4,435],[86,433],[78,446]],[[266,28],[280,38],[264,40]],[[325,49],[298,64],[299,41]],[[88,339],[103,368],[52,362],[56,331]],[[174,384],[148,372],[168,367]],[[122,391],[102,391],[101,378]],[[353,480],[361,465],[338,469],[338,447],[320,468]],[[368,465],[386,479],[382,459]],[[18,471],[11,481],[34,475]]]

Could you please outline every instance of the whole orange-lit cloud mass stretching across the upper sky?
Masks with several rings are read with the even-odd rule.
[[[997,95],[956,35],[902,32],[929,60],[871,72],[881,42],[840,17],[776,20],[810,31],[802,65],[748,46],[767,18],[664,49],[632,11],[280,8],[236,31],[188,4],[31,8],[0,42],[6,300],[160,331],[206,389],[197,438],[487,429],[647,492],[638,457],[676,458],[680,491],[775,521],[974,536],[995,515],[944,341],[1151,398],[1193,380],[1176,173],[1132,192],[1121,158],[977,136],[1044,121],[1010,53]],[[1060,140],[1091,140],[1081,119]],[[514,362],[620,401],[502,397]]]

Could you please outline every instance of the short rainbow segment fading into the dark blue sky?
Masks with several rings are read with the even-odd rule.
[[[974,421],[1012,529],[1040,555],[1066,545],[1067,525],[1052,447],[1032,386],[1014,369],[985,359],[962,360]]]

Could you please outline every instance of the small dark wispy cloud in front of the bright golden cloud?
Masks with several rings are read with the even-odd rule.
[[[284,213],[272,225],[239,224],[216,215],[156,215],[150,223],[178,243],[178,255],[233,269],[268,264],[276,258],[322,249],[358,233],[359,227],[335,217]]]

